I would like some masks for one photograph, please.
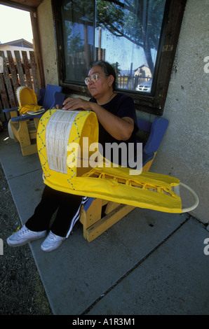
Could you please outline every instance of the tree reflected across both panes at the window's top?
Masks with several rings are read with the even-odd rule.
[[[123,2],[122,2],[123,1]],[[69,20],[107,29],[144,50],[151,73],[154,63],[151,49],[158,49],[166,0],[71,0],[64,7]],[[95,13],[96,3],[96,13]],[[66,14],[67,15],[67,14]],[[95,20],[96,18],[96,20]],[[96,21],[96,25],[95,25]]]

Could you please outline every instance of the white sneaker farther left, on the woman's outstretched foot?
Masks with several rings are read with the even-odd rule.
[[[41,237],[45,237],[45,235],[46,231],[34,232],[28,230],[28,228],[24,225],[18,232],[15,232],[13,235],[8,237],[6,242],[9,246],[22,246],[23,244],[27,244],[29,241],[41,239]]]

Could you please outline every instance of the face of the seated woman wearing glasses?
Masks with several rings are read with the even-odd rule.
[[[90,80],[88,83],[88,91],[90,94],[95,97],[104,96],[105,94],[109,93],[112,90],[112,83],[113,83],[113,76],[105,76],[102,67],[99,65],[93,66],[90,71],[88,72],[88,77],[92,76],[93,74],[98,74],[98,79],[95,83]]]

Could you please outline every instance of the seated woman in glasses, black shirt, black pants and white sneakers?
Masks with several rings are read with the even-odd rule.
[[[99,122],[99,143],[103,148],[105,143],[120,144],[123,141],[128,146],[128,143],[135,142],[137,119],[134,102],[131,97],[116,92],[116,73],[112,66],[103,61],[95,62],[88,72],[85,83],[92,96],[90,101],[69,97],[63,103],[62,109],[94,111]],[[121,164],[121,156],[118,163]],[[74,224],[79,220],[81,204],[87,200],[87,197],[62,193],[45,186],[41,202],[33,216],[21,230],[8,237],[7,243],[10,246],[21,246],[45,237],[50,219],[58,209],[48,236],[41,244],[43,251],[55,250],[65,240],[66,235],[72,232]]]

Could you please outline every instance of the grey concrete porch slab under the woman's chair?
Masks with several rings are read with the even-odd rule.
[[[7,137],[1,165],[24,224],[41,199],[41,165]],[[43,239],[30,247],[55,315],[208,315],[208,237],[189,214],[134,209],[90,243],[78,223],[56,251],[41,251]]]

